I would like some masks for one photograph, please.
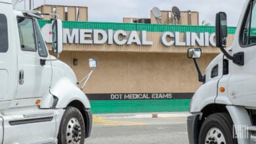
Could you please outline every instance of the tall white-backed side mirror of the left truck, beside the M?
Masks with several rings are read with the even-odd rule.
[[[60,54],[62,52],[62,22],[61,20],[53,20],[52,24],[52,32],[53,32],[53,53]]]

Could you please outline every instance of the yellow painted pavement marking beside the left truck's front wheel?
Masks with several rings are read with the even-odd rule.
[[[93,116],[93,124],[101,124],[105,126],[135,126],[135,125],[145,125],[147,123],[129,122],[129,121],[121,121],[121,120],[106,120],[104,118]]]

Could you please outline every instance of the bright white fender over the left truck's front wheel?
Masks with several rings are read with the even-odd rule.
[[[91,108],[89,99],[74,83],[67,78],[59,79],[50,88],[51,94],[58,98],[55,108],[65,108],[72,101],[81,101],[86,109]]]

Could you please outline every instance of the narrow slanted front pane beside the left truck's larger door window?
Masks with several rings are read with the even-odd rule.
[[[36,31],[36,35],[37,35],[38,53],[41,57],[46,58],[48,56],[48,52],[47,52],[47,48],[45,45],[45,40],[43,39],[43,36],[41,35],[41,31],[40,31],[39,25],[36,20],[35,20],[35,31]]]

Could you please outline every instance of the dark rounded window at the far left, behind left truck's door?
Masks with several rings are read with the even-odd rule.
[[[0,52],[8,50],[8,27],[7,18],[4,14],[0,14]]]

